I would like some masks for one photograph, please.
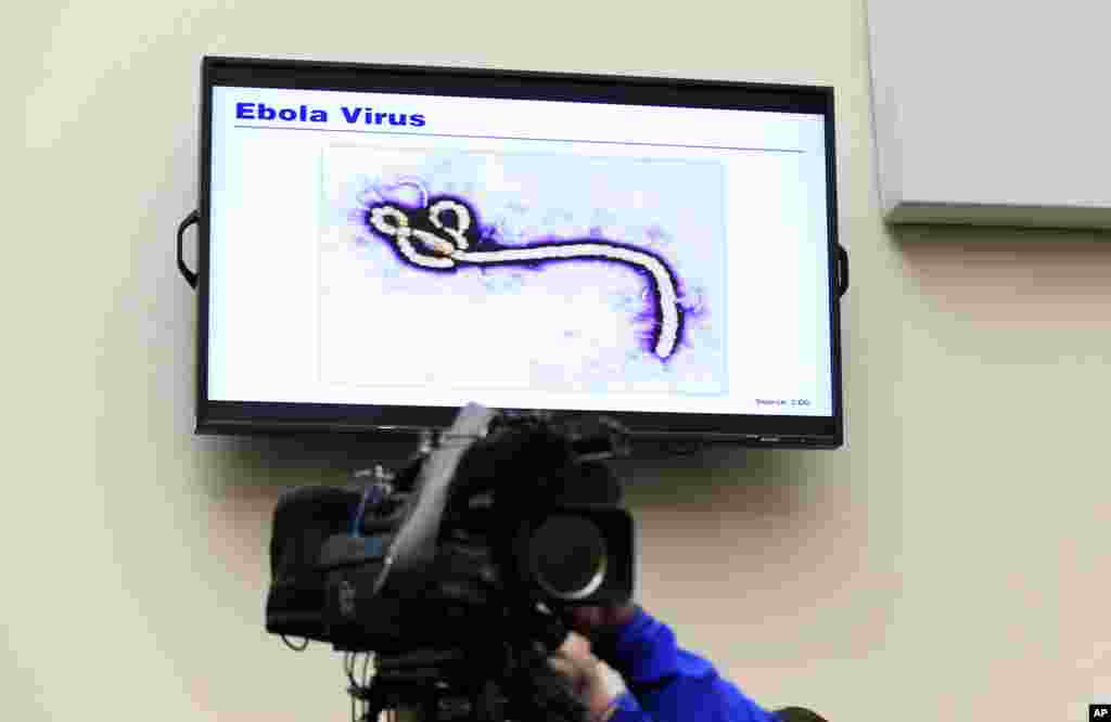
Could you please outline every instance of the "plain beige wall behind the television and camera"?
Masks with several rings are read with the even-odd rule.
[[[8,18],[0,719],[347,719],[339,660],[262,631],[266,544],[283,488],[373,452],[190,435],[203,53],[835,86],[850,443],[628,464],[641,596],[835,722],[1111,702],[1111,237],[885,230],[861,0],[442,7]]]

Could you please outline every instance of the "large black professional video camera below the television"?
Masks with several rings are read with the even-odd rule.
[[[514,685],[558,706],[540,663],[562,612],[632,596],[632,519],[605,464],[627,453],[605,419],[464,407],[397,473],[282,497],[266,629],[372,652],[373,683],[349,689],[366,720],[503,720]]]

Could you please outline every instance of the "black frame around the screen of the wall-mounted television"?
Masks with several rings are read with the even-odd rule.
[[[825,124],[832,417],[581,411],[608,415],[634,441],[730,442],[748,447],[837,449],[844,439],[833,89],[717,80],[595,76],[520,70],[388,66],[204,57],[201,61],[198,253],[198,434],[419,434],[451,424],[449,407],[212,401],[208,399],[209,189],[212,89],[217,86],[347,90],[448,97],[563,100],[820,114]],[[481,401],[477,399],[477,401]]]

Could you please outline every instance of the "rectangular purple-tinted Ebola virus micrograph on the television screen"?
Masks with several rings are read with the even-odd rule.
[[[321,170],[327,383],[728,392],[721,163],[354,143]]]

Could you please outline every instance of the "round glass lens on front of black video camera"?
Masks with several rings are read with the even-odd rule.
[[[529,541],[533,581],[557,599],[593,594],[605,579],[605,537],[598,524],[582,517],[549,517]]]

